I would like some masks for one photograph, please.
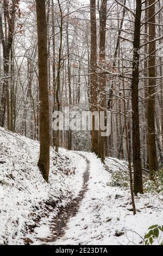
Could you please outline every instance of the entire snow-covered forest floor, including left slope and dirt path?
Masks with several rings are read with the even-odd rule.
[[[129,187],[112,180],[126,162],[51,149],[46,184],[38,142],[5,129],[0,141],[1,245],[141,245],[149,226],[163,224],[161,195],[135,197],[133,216]]]

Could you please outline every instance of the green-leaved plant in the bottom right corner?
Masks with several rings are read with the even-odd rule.
[[[153,225],[148,228],[149,232],[145,235],[145,245],[153,245],[153,243],[156,241],[159,245],[163,245],[163,241],[160,243],[161,233],[163,232],[163,225]]]

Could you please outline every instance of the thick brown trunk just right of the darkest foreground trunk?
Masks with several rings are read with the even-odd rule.
[[[155,0],[149,0],[149,60],[148,60],[148,160],[149,176],[154,180],[157,169],[156,143],[155,143],[155,85],[156,85],[156,45],[155,41]],[[151,6],[150,6],[151,5]]]

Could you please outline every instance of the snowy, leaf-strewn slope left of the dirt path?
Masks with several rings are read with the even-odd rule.
[[[0,129],[0,245],[46,237],[47,223],[82,186],[82,157],[51,149],[49,184],[37,168],[38,157],[38,142]]]

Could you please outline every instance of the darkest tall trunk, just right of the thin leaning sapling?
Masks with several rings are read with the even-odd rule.
[[[139,126],[139,50],[141,28],[141,0],[136,0],[135,28],[134,28],[134,54],[133,74],[131,80],[131,101],[133,120],[133,165],[134,165],[134,193],[143,193],[142,166],[140,151],[140,126]]]

